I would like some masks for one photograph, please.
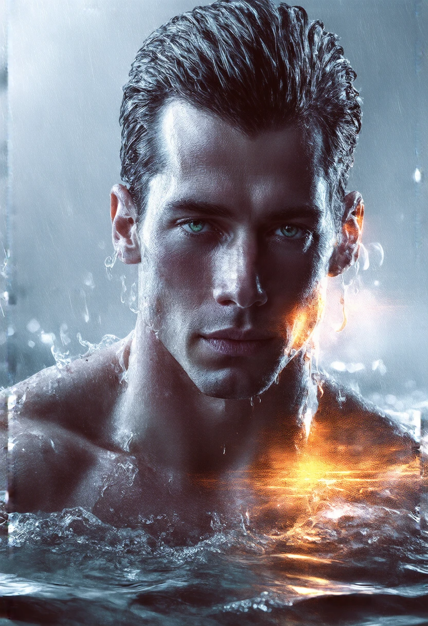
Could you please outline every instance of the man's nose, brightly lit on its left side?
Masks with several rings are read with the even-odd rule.
[[[219,256],[213,290],[215,301],[225,306],[236,305],[240,309],[265,304],[267,293],[260,284],[257,240],[237,235]]]

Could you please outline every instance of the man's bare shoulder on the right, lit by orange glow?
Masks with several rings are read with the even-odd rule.
[[[330,378],[321,389],[310,436],[324,441],[330,453],[382,464],[410,463],[417,457],[417,441],[392,416]]]

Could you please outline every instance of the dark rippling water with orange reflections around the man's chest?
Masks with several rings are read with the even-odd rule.
[[[211,532],[188,545],[178,518],[130,529],[81,508],[13,513],[0,626],[428,625],[428,532],[400,471],[311,471],[307,510],[289,528],[213,513]]]

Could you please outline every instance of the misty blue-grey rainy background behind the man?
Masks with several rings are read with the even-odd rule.
[[[364,101],[349,189],[364,197],[368,256],[359,292],[347,290],[348,323],[340,333],[340,280],[331,281],[320,362],[398,409],[398,396],[427,389],[427,4],[303,3],[311,19],[340,35]],[[109,192],[120,182],[121,87],[146,36],[193,6],[14,0],[6,21],[2,5],[8,74],[0,80],[0,166],[8,184],[0,198],[0,254],[7,257],[0,385],[54,364],[52,347],[82,354],[78,333],[98,343],[134,326],[136,268],[117,262],[109,279],[104,266],[113,254]],[[1,53],[4,68],[4,45]]]

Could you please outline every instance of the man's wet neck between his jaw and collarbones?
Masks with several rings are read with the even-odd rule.
[[[261,396],[231,400],[201,393],[138,319],[126,389],[115,413],[120,446],[152,467],[185,473],[235,471],[269,463],[305,440],[316,384],[302,354]]]

